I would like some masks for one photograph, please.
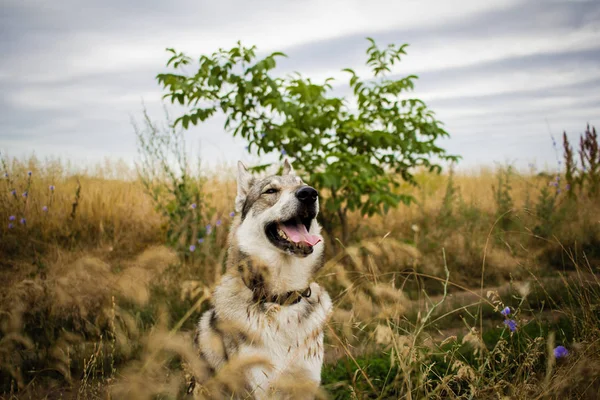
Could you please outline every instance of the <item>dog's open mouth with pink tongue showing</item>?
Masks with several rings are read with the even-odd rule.
[[[321,241],[321,237],[308,231],[312,218],[293,218],[283,222],[272,222],[266,227],[266,234],[271,243],[287,252],[307,256],[313,252],[313,246]]]

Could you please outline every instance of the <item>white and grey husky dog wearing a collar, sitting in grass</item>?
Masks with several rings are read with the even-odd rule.
[[[195,334],[198,353],[216,374],[244,358],[262,360],[245,364],[243,393],[236,396],[312,398],[332,307],[327,292],[311,282],[323,266],[318,193],[287,160],[282,175],[261,180],[238,162],[235,211],[227,271]],[[281,382],[302,393],[282,392]]]

